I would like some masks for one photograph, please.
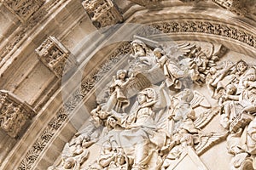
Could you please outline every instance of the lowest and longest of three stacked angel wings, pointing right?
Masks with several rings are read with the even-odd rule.
[[[218,144],[228,136],[228,131],[224,133],[206,133],[199,136],[199,144],[195,145],[198,156],[210,149],[214,144]]]

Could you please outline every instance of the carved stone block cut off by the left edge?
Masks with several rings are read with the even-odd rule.
[[[0,127],[10,137],[17,137],[33,116],[36,116],[35,111],[25,101],[0,90]]]

